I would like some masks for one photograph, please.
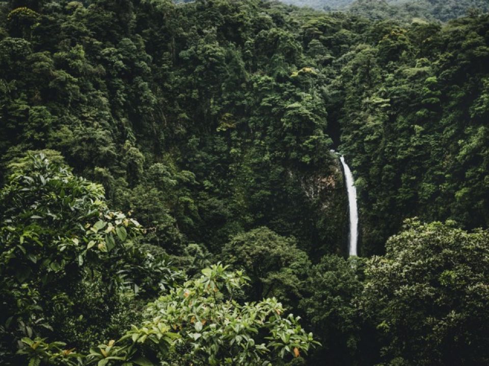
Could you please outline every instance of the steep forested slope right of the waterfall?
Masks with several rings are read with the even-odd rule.
[[[376,29],[335,81],[364,253],[382,252],[406,217],[487,227],[489,17]]]

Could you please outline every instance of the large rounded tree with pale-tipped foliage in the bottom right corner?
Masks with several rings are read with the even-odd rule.
[[[489,232],[408,220],[366,266],[361,311],[388,364],[485,364]]]

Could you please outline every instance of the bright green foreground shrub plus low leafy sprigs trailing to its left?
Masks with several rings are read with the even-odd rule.
[[[318,344],[275,298],[239,304],[231,294],[247,283],[241,272],[222,264],[171,289],[150,303],[140,327],[132,326],[118,341],[93,347],[87,356],[64,350],[65,343],[22,339],[19,351],[33,364],[124,366],[271,365],[298,357]]]

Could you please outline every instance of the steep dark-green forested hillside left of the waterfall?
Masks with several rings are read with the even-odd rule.
[[[322,209],[341,185],[322,74],[287,12],[260,7],[5,8],[4,166],[19,151],[61,151],[170,251],[218,249],[257,225],[340,251],[337,217]]]

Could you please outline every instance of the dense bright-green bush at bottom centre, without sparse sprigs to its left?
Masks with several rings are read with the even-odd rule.
[[[241,271],[218,264],[202,273],[147,309],[154,321],[180,334],[174,364],[278,364],[317,344],[299,318],[282,316],[284,309],[275,297],[243,304],[234,300],[233,294],[249,282]]]

